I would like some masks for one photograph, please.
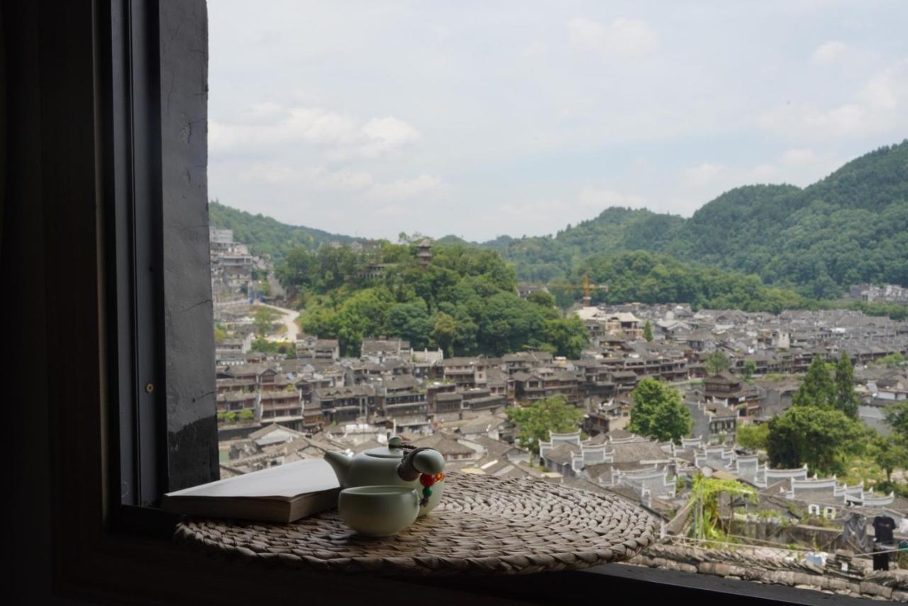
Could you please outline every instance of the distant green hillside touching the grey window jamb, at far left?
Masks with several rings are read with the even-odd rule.
[[[271,255],[274,259],[283,259],[299,246],[317,249],[326,242],[353,241],[350,236],[287,225],[261,214],[232,209],[217,201],[208,203],[208,217],[213,227],[233,230],[233,238],[248,244],[252,254]]]

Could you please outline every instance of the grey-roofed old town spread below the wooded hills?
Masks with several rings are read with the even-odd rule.
[[[773,315],[695,312],[687,305],[587,306],[575,312],[588,333],[578,359],[545,351],[445,357],[440,349],[415,350],[380,335],[362,341],[358,358],[341,357],[336,339],[304,334],[291,355],[263,353],[252,350],[251,317],[258,304],[252,268],[264,263],[242,245],[230,246],[228,234],[219,239],[212,243],[213,279],[220,282],[213,290],[217,319],[229,335],[216,347],[222,477],[331,450],[359,453],[401,435],[439,450],[451,471],[621,494],[656,516],[665,537],[686,536],[691,484],[706,474],[755,489],[757,503],[725,508],[726,522],[755,544],[771,537],[854,552],[842,532],[853,513],[867,520],[890,516],[896,539],[908,540],[908,499],[808,475],[806,465],[771,469],[735,445],[739,427],[766,423],[792,405],[799,376],[814,357],[834,361],[842,351],[854,364],[860,418],[887,433],[883,407],[908,398],[908,368],[874,363],[908,353],[908,322],[850,310]],[[644,338],[647,325],[652,340]],[[706,360],[716,351],[728,369],[709,374]],[[631,393],[646,377],[683,395],[694,426],[680,445],[627,431]],[[532,454],[516,443],[506,411],[555,395],[582,408],[582,425],[551,434]],[[658,556],[650,550],[639,560],[685,569],[691,549],[683,542],[660,545]],[[765,580],[773,582],[778,571],[767,566]],[[803,584],[820,583],[813,581]],[[838,589],[854,590],[847,584],[854,579],[842,582]],[[893,595],[891,587],[880,591],[886,590]]]

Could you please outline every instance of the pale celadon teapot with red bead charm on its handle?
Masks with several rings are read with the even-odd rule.
[[[403,444],[399,436],[387,446],[370,448],[350,457],[343,453],[325,453],[338,476],[341,488],[393,485],[415,488],[423,498],[419,515],[429,513],[439,504],[444,491],[445,459],[434,448],[417,448]]]

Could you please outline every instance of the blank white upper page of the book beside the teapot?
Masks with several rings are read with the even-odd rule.
[[[331,465],[322,459],[297,461],[263,469],[252,474],[237,475],[210,484],[185,488],[168,497],[220,496],[220,497],[293,497],[299,494],[318,493],[339,488],[337,476]]]

